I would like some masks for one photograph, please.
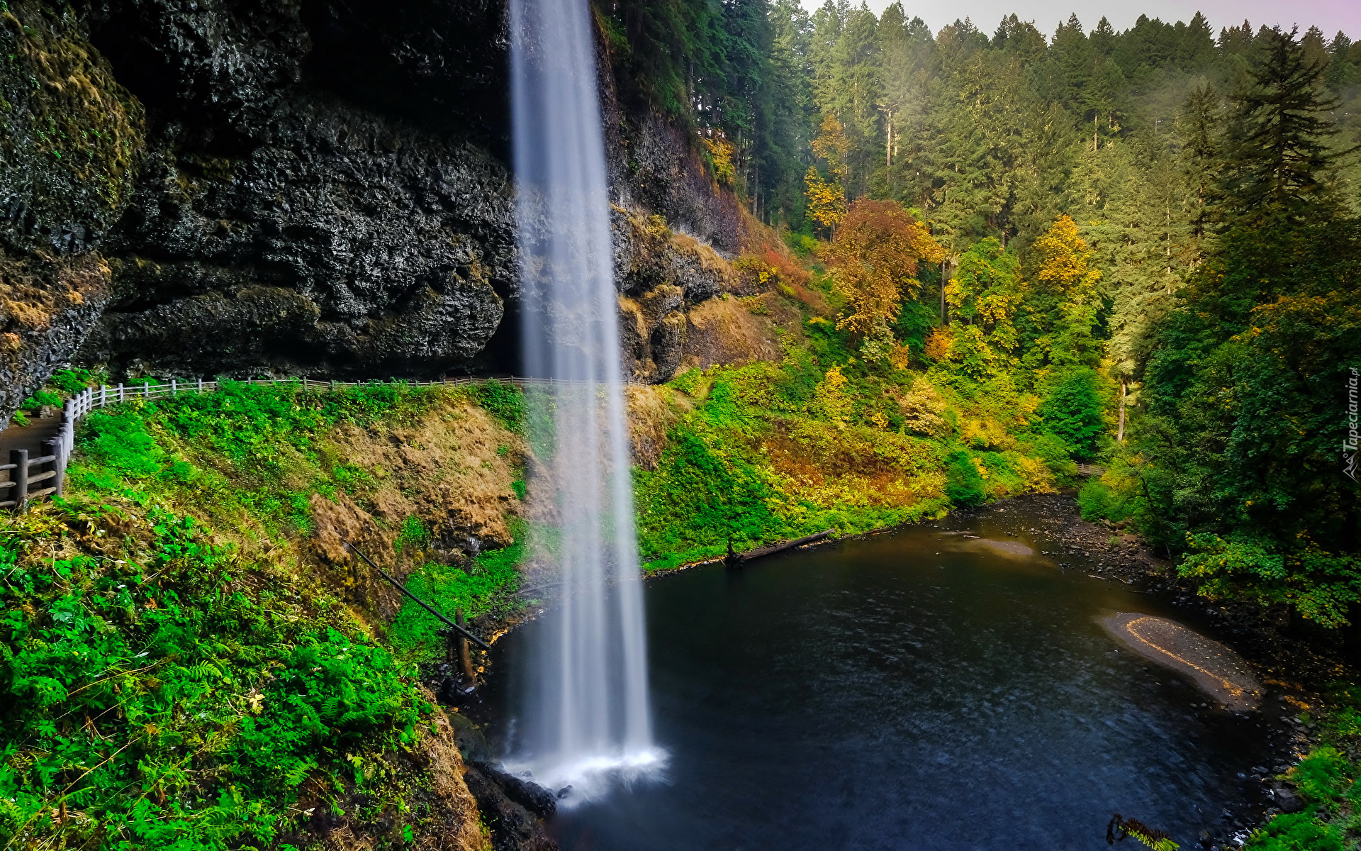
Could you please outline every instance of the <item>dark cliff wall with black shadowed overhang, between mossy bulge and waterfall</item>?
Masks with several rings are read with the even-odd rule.
[[[514,295],[509,176],[476,144],[498,124],[482,101],[499,94],[487,68],[504,61],[502,16],[485,3],[388,11],[91,10],[91,38],[152,129],[82,358],[116,372],[430,376],[486,347]],[[450,106],[465,84],[480,99]],[[397,97],[380,110],[384,91]],[[453,132],[460,120],[475,124]]]

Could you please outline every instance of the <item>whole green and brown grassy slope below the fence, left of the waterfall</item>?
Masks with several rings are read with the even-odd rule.
[[[445,490],[499,475],[512,494],[519,444],[479,395],[505,415],[495,391],[403,385],[229,385],[93,414],[68,498],[3,520],[0,844],[301,848],[344,824],[377,847],[480,847],[461,783],[429,771],[457,754],[408,648],[374,639],[351,572],[312,543],[321,498],[354,507],[380,562],[423,561],[448,500],[346,452],[431,423],[486,456],[450,464]],[[470,568],[442,568],[444,590],[505,606],[513,569]]]

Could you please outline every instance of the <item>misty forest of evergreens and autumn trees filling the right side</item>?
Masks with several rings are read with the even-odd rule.
[[[847,0],[599,19],[621,89],[848,305],[848,372],[1019,406],[1007,429],[1106,467],[1087,517],[1207,595],[1350,628],[1361,45],[1199,14],[932,34]]]

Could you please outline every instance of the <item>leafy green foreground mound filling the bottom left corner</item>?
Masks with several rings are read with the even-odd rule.
[[[118,497],[7,516],[0,598],[3,847],[287,848],[355,791],[392,820],[380,846],[419,821],[412,671],[192,519]]]

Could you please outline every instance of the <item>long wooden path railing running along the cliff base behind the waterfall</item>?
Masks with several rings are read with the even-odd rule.
[[[317,391],[336,391],[347,389],[351,387],[367,387],[373,384],[389,384],[397,383],[392,381],[317,381],[316,379],[246,379],[244,381],[235,381],[235,384],[297,384],[304,389],[317,389]],[[411,387],[441,387],[441,385],[460,385],[460,384],[509,384],[514,387],[535,385],[557,385],[566,384],[566,381],[553,380],[553,379],[524,379],[519,376],[499,377],[499,379],[444,379],[440,381],[400,381]],[[90,411],[105,407],[108,404],[117,404],[120,402],[131,402],[133,399],[165,399],[166,396],[178,396],[180,394],[211,394],[222,387],[219,381],[204,381],[201,379],[196,381],[180,381],[178,379],[171,379],[166,384],[155,384],[151,381],[142,384],[117,384],[117,385],[102,385],[102,387],[87,387],[75,396],[67,399],[65,406],[61,408],[61,422],[57,426],[57,434],[52,440],[45,440],[42,443],[42,455],[37,457],[29,457],[27,449],[11,449],[10,463],[0,464],[0,471],[10,472],[8,482],[0,482],[0,496],[5,497],[0,502],[0,508],[14,508],[15,511],[23,511],[24,505],[39,497],[61,496],[61,487],[67,475],[67,463],[71,460],[71,452],[76,445],[76,423],[80,418]],[[42,470],[48,467],[48,470]],[[35,471],[37,470],[37,471]],[[34,485],[42,482],[50,482],[46,487],[34,490]]]

